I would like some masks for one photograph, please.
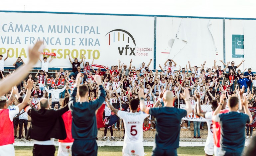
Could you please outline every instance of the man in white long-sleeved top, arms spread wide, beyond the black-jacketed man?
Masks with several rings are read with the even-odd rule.
[[[55,84],[54,89],[51,89],[51,90],[47,89],[45,84],[43,85],[45,87],[45,90],[48,93],[52,94],[52,108],[54,108],[55,104],[58,104],[60,108],[60,93],[62,93],[66,89],[66,85],[62,89],[58,89],[58,85]]]

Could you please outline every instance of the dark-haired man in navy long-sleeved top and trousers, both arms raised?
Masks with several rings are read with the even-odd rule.
[[[69,98],[68,107],[72,114],[72,155],[97,155],[98,146],[95,138],[97,137],[96,111],[105,100],[105,91],[99,75],[94,76],[94,80],[99,85],[100,95],[97,100],[88,101],[88,87],[80,85],[81,73],[77,74],[76,87]],[[76,92],[78,102],[75,102]]]

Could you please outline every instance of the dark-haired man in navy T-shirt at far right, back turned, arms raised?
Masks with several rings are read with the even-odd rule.
[[[240,90],[240,97],[243,96],[244,87]],[[238,98],[230,97],[228,98],[228,113],[219,114],[222,105],[226,101],[225,94],[220,97],[219,106],[213,113],[212,120],[215,122],[220,122],[220,151],[219,156],[233,155],[240,156],[244,149],[245,143],[245,133],[244,125],[245,123],[252,122],[252,116],[248,109],[248,104],[246,102],[245,96],[241,98],[243,108],[245,113],[238,113]],[[235,127],[235,128],[234,128]]]

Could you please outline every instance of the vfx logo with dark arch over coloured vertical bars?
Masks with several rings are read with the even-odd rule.
[[[129,41],[131,42],[132,40],[135,46],[136,46],[136,43],[133,36],[129,32],[122,29],[115,29],[108,32],[106,36],[107,35],[108,35],[108,45],[110,45],[110,43],[118,42],[118,41],[127,42],[125,47],[118,47],[118,51],[120,55],[123,55],[124,49],[125,49],[125,55],[128,55],[128,54],[135,55],[134,50],[136,47],[129,47]]]

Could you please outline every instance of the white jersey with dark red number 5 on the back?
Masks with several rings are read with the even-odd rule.
[[[149,114],[143,112],[128,113],[118,111],[117,116],[124,120],[124,143],[142,143],[143,141],[143,122]]]

